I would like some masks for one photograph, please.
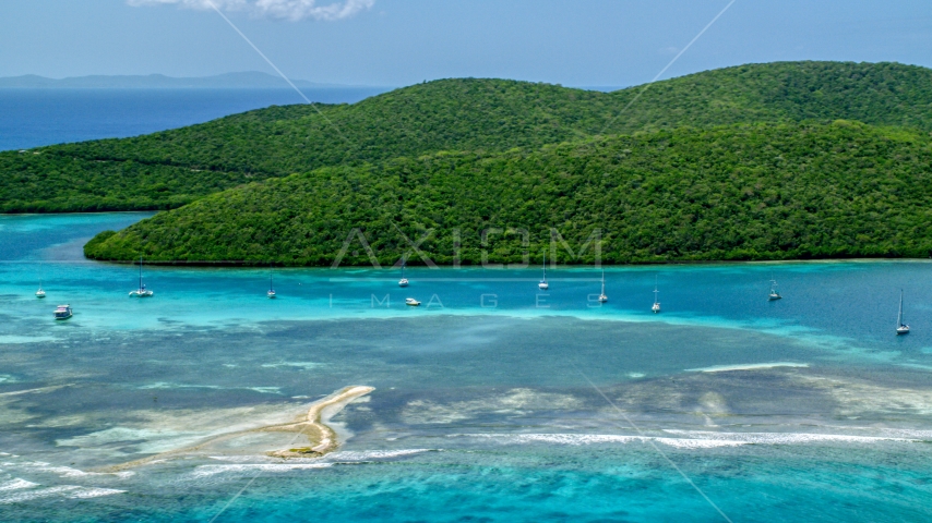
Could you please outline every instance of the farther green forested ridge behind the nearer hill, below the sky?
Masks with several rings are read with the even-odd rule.
[[[2,153],[0,210],[171,208],[250,180],[326,166],[441,150],[538,148],[681,125],[849,119],[929,132],[932,70],[895,63],[752,64],[609,94],[445,80],[319,108],[320,113],[310,106],[272,107],[135,138],[43,147],[35,150],[39,155]]]

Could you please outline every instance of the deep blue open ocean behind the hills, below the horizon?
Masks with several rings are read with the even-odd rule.
[[[315,102],[353,104],[389,88],[302,90]],[[303,104],[291,89],[0,89],[0,150],[136,136],[291,104]]]

